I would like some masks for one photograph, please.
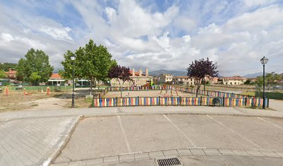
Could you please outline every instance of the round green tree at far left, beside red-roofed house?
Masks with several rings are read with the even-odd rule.
[[[54,68],[49,64],[49,56],[43,50],[34,50],[31,48],[25,55],[25,58],[19,59],[17,66],[17,80],[23,82],[34,82],[35,74],[37,73],[40,79],[37,82],[47,82]]]

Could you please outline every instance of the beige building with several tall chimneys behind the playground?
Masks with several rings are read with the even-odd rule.
[[[143,74],[141,68],[139,68],[139,71],[135,71],[135,68],[132,68],[130,70],[130,78],[132,79],[132,82],[125,82],[123,86],[142,86],[145,84],[150,84],[153,82],[153,76],[148,75],[148,68],[146,68],[146,73]],[[110,84],[112,86],[120,86],[117,78],[113,78],[110,80]],[[122,82],[121,82],[122,84]]]

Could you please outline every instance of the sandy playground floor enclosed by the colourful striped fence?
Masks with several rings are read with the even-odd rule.
[[[178,94],[177,94],[178,93]],[[182,96],[182,97],[196,97],[196,94],[192,93],[186,93],[186,92],[181,92],[181,91],[172,91],[172,96]],[[171,96],[171,91],[123,91],[122,92],[123,97],[165,97],[165,96]],[[120,91],[110,91],[108,92],[104,98],[116,98],[120,97]]]

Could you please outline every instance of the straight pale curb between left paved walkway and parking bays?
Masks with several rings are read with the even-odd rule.
[[[56,148],[53,150],[51,155],[49,155],[49,157],[45,159],[41,165],[49,166],[51,165],[53,160],[57,158],[62,149],[64,149],[64,147],[67,145],[67,142],[69,142],[69,140],[71,139],[71,134],[74,132],[74,129],[76,129],[76,126],[81,118],[83,118],[83,116],[80,115],[74,120],[74,122],[71,122],[71,125],[69,126],[69,129],[67,129],[65,135],[60,136],[61,138],[59,140],[59,144],[56,145]]]

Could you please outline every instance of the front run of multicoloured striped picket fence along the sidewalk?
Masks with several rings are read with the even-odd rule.
[[[266,99],[266,106],[268,100]],[[93,107],[130,106],[223,106],[223,107],[262,107],[261,98],[191,98],[191,97],[133,97],[133,98],[94,98]]]

